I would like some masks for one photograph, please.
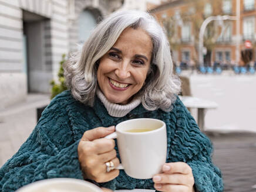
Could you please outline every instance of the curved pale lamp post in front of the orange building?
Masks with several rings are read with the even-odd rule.
[[[208,18],[206,18],[206,20],[204,20],[199,32],[198,59],[199,59],[200,65],[203,65],[204,31],[206,30],[208,23],[210,23],[212,20],[223,21],[223,20],[236,20],[236,19],[237,19],[237,16],[217,15],[217,16],[209,16]]]

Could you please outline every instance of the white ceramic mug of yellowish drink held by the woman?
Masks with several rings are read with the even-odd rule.
[[[153,129],[147,132],[127,132],[130,129]],[[127,175],[136,179],[150,179],[161,172],[166,162],[166,124],[159,119],[139,118],[123,121],[116,125],[116,132],[105,138],[117,138],[122,164]]]

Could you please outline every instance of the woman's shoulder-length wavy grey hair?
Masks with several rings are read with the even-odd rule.
[[[180,92],[180,80],[173,74],[169,42],[156,19],[143,11],[119,11],[102,20],[92,31],[82,50],[73,54],[64,65],[66,84],[73,97],[93,106],[97,85],[97,67],[100,58],[114,45],[126,28],[141,28],[151,37],[153,50],[150,70],[142,89],[144,108],[171,111],[171,104]]]

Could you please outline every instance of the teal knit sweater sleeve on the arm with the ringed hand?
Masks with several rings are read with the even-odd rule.
[[[79,140],[65,114],[65,97],[53,99],[18,152],[0,169],[0,191],[11,192],[33,181],[54,177],[83,179],[78,161]]]

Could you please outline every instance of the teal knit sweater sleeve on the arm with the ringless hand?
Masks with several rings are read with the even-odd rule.
[[[223,191],[220,169],[212,162],[211,140],[198,128],[196,121],[180,100],[176,103],[177,126],[174,131],[171,155],[186,162],[193,170],[196,190],[200,192]]]

